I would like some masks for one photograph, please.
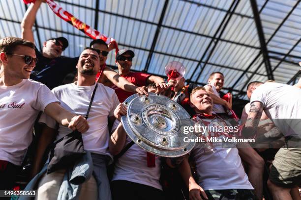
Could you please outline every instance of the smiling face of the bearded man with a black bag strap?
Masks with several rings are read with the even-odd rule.
[[[82,75],[96,75],[100,69],[99,55],[95,50],[84,50],[76,68]]]

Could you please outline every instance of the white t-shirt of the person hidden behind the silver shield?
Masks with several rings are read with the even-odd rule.
[[[115,123],[112,130],[116,127]],[[126,135],[124,146],[130,141],[132,140]],[[155,167],[148,167],[147,151],[134,144],[116,161],[112,181],[127,180],[162,190],[162,186],[159,183],[160,174],[160,157],[155,155]]]

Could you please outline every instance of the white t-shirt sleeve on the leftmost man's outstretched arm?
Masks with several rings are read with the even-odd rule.
[[[44,112],[45,107],[52,102],[60,103],[50,89],[42,84],[36,93],[36,101],[33,104],[33,108]]]

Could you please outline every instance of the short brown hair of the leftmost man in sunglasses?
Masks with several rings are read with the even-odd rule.
[[[34,49],[34,44],[28,40],[17,37],[5,37],[0,40],[0,52],[13,53],[18,46]]]

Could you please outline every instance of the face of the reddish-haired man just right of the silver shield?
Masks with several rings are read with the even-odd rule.
[[[190,102],[197,113],[211,111],[213,100],[205,90],[198,90],[191,95]]]

